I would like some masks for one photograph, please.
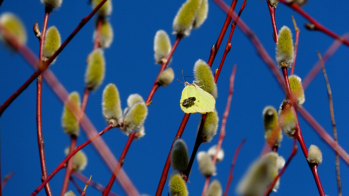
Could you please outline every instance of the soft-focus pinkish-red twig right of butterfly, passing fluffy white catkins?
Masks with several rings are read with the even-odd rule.
[[[235,74],[236,74],[236,66],[234,66],[232,73],[230,75],[229,94],[228,94],[228,99],[227,99],[227,105],[225,106],[225,111],[223,114],[221,131],[220,131],[218,142],[217,142],[216,153],[213,157],[213,164],[217,163],[217,154],[218,154],[219,150],[221,149],[223,139],[225,137],[225,126],[227,125],[227,119],[228,119],[229,110],[230,110],[231,98],[232,98],[233,92],[234,92]],[[202,196],[205,196],[205,194],[206,194],[208,184],[210,182],[210,178],[211,178],[211,176],[206,177],[205,185],[203,186],[203,190],[202,190],[202,194],[201,194]]]

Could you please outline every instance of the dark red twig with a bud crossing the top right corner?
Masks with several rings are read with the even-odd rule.
[[[296,3],[289,3],[286,0],[280,0],[283,4],[291,7],[294,9],[296,12],[298,12],[300,15],[305,17],[309,22],[314,24],[314,27],[316,30],[322,31],[325,34],[335,38],[335,39],[340,39],[340,36],[337,35],[336,33],[332,32],[331,30],[327,29],[324,25],[319,23],[317,20],[315,20],[313,17],[311,17],[308,13],[306,13],[302,8],[300,8]],[[347,39],[342,39],[342,42],[349,46],[349,41]]]

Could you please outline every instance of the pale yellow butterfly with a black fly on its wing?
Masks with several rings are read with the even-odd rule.
[[[195,84],[198,82],[193,81],[193,84],[184,82],[185,87],[180,98],[180,108],[187,114],[196,112],[205,114],[213,112],[215,109],[215,98]]]

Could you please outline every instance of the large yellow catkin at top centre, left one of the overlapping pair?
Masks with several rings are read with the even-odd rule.
[[[173,34],[189,36],[202,0],[187,0],[173,20]]]

